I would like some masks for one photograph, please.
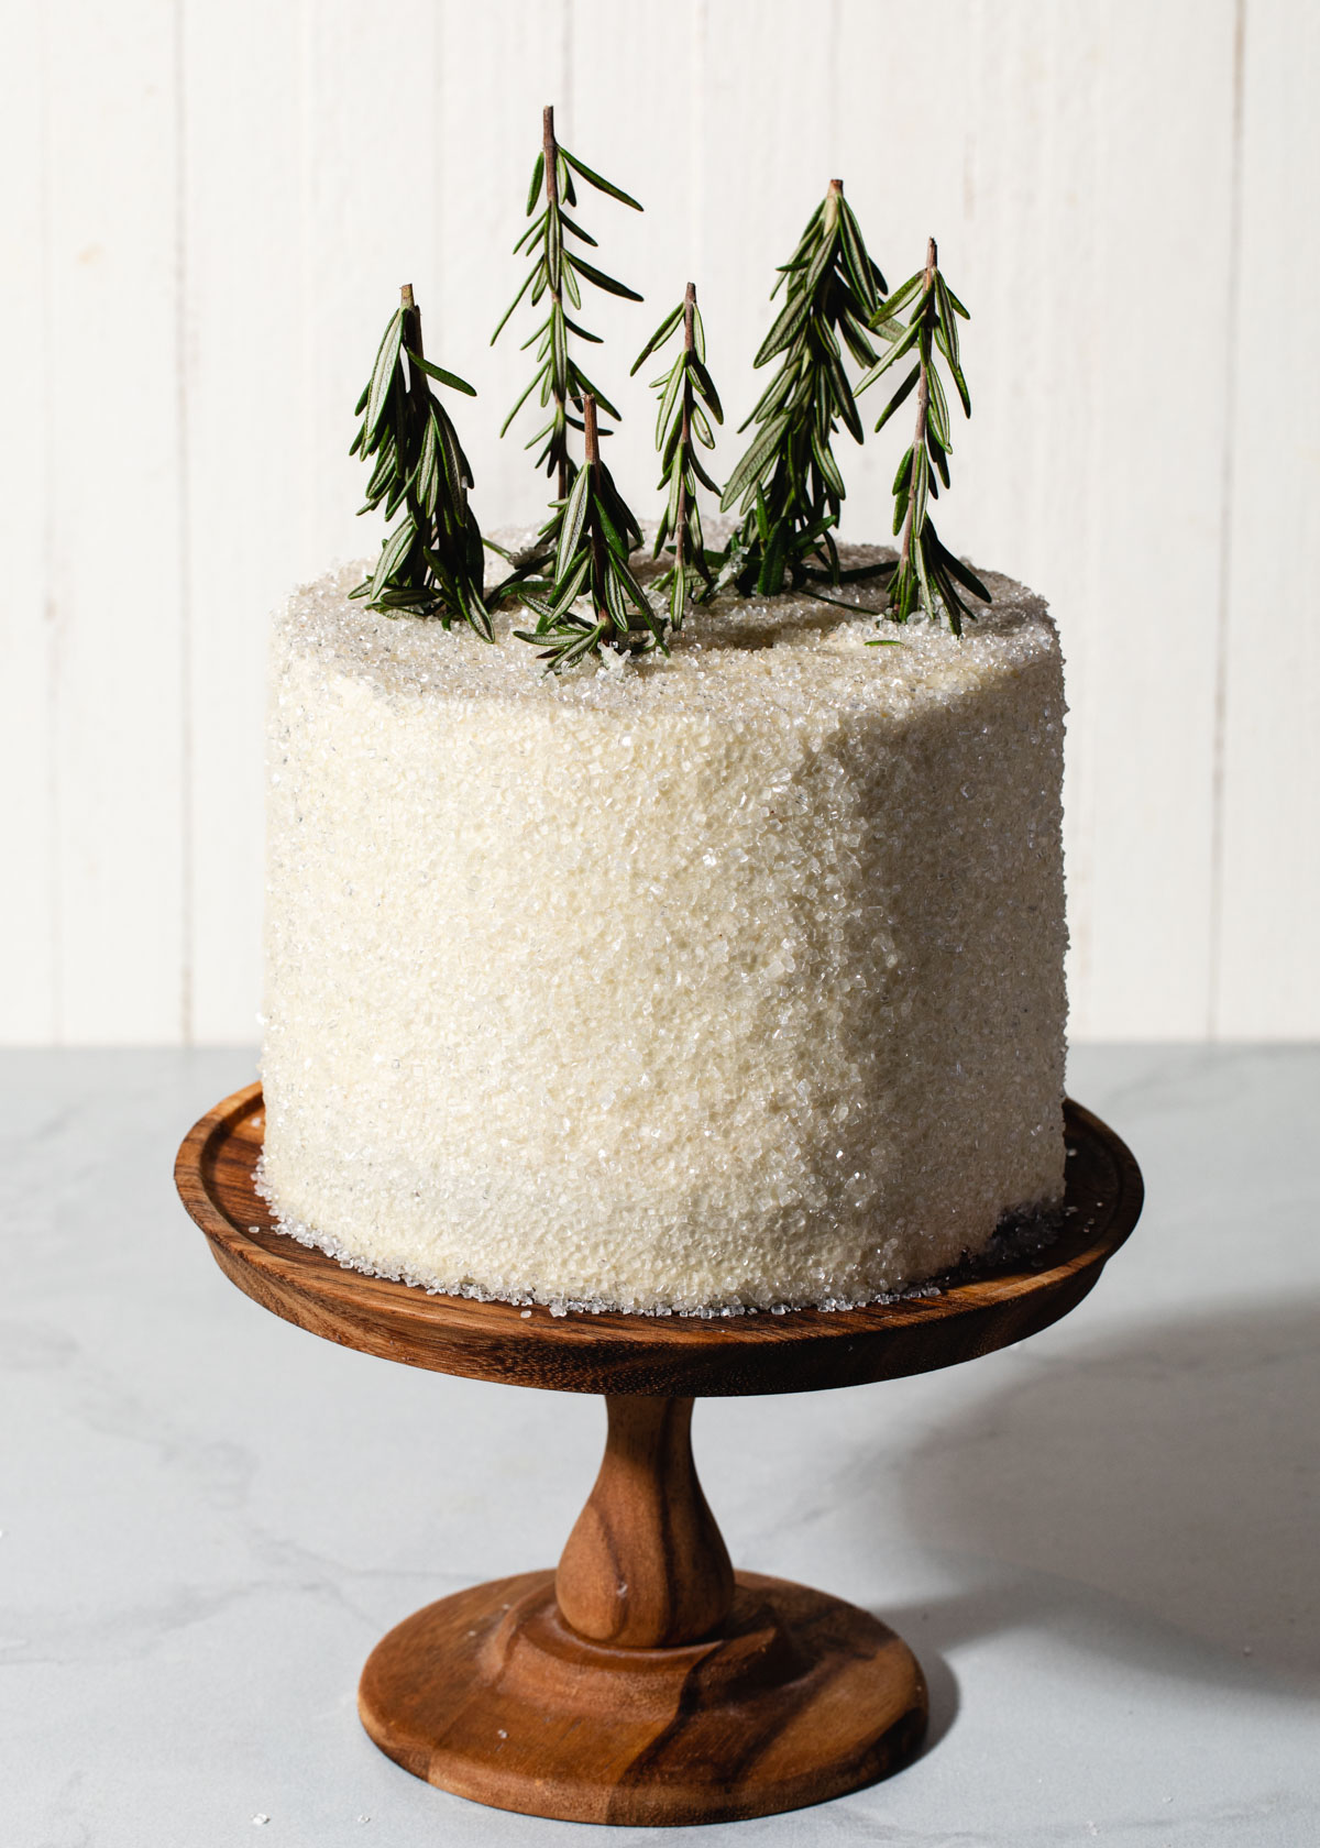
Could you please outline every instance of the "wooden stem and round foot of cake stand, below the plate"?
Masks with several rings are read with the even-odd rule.
[[[558,1573],[392,1630],[362,1724],[418,1778],[573,1822],[723,1822],[898,1769],[926,1728],[911,1650],[874,1617],[739,1574],[691,1458],[691,1399],[608,1399],[601,1475]]]

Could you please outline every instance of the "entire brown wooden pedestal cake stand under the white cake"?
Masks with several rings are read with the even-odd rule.
[[[937,1295],[712,1319],[568,1314],[427,1295],[272,1229],[253,1188],[261,1087],[216,1105],[176,1181],[220,1270],[299,1329],[470,1379],[605,1393],[601,1475],[558,1571],[407,1617],[359,1711],[405,1770],[536,1817],[682,1824],[771,1815],[906,1765],[926,1685],[902,1637],[823,1591],[734,1573],[691,1458],[693,1397],[813,1392],[954,1366],[1074,1308],[1141,1212],[1137,1164],[1067,1105],[1063,1234]]]

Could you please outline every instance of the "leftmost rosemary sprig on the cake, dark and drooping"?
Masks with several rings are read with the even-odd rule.
[[[362,421],[349,455],[375,456],[361,512],[385,503],[386,521],[399,506],[403,519],[385,540],[375,571],[349,595],[366,597],[368,608],[388,615],[438,615],[446,628],[460,615],[494,641],[483,599],[481,529],[468,505],[471,468],[429,381],[477,394],[466,379],[423,357],[410,283],[399,298],[357,401]]]

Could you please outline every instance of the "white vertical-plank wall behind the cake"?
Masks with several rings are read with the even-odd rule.
[[[412,281],[484,525],[540,107],[590,196],[612,462],[697,281],[732,421],[767,290],[839,174],[889,281],[972,309],[941,532],[1069,658],[1072,1027],[1320,1031],[1320,13],[1307,0],[6,0],[0,1033],[246,1040],[264,619],[375,549],[346,455]],[[645,379],[647,371],[643,371]],[[886,432],[886,438],[889,432]],[[849,527],[897,442],[845,444]],[[727,473],[736,440],[717,469]]]

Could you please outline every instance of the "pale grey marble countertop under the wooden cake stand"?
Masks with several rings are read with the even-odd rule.
[[[0,1055],[0,1841],[584,1841],[418,1783],[353,1696],[399,1617],[553,1563],[603,1408],[386,1366],[233,1290],[170,1166],[251,1070]],[[1070,1318],[945,1373],[697,1406],[736,1562],[884,1615],[932,1735],[874,1789],[684,1841],[1320,1841],[1320,1050],[1087,1046],[1070,1087],[1148,1188]]]

